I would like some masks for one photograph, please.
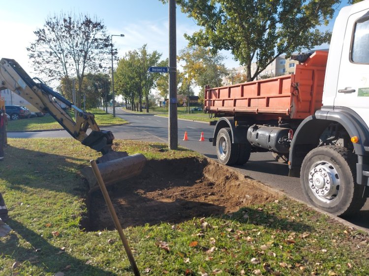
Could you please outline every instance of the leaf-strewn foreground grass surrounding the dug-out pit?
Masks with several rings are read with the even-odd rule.
[[[116,231],[80,229],[88,188],[79,169],[98,154],[70,138],[9,143],[0,191],[14,231],[0,238],[0,275],[133,275]],[[125,140],[117,149],[149,159],[199,156]],[[287,198],[124,233],[142,275],[369,275],[368,234]]]

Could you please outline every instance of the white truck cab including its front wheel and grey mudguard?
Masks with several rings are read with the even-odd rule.
[[[332,33],[323,106],[291,141],[290,174],[330,213],[359,210],[369,190],[369,1],[341,9]]]

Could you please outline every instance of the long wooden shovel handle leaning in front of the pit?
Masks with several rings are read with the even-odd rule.
[[[100,170],[96,164],[96,161],[94,160],[91,160],[90,161],[91,163],[91,167],[92,167],[92,171],[93,171],[93,174],[95,175],[96,177],[96,180],[97,180],[97,183],[99,184],[100,186],[100,189],[101,189],[101,192],[102,192],[102,195],[104,196],[104,199],[105,199],[105,202],[106,202],[106,205],[108,206],[108,209],[109,209],[109,212],[110,212],[110,215],[112,216],[112,219],[114,221],[114,225],[115,227],[117,228],[118,230],[118,233],[119,233],[119,236],[121,237],[121,240],[122,240],[122,243],[123,243],[123,246],[124,246],[124,249],[125,249],[125,252],[127,253],[127,256],[128,256],[128,259],[129,259],[129,262],[131,264],[131,267],[133,269],[133,273],[135,276],[140,276],[140,272],[137,268],[137,265],[136,265],[136,262],[133,258],[133,254],[132,254],[132,251],[131,249],[129,248],[129,245],[128,245],[128,241],[127,239],[125,238],[124,236],[124,233],[123,233],[123,229],[122,229],[122,226],[121,226],[121,223],[119,222],[119,219],[118,219],[118,216],[117,216],[117,213],[115,212],[115,209],[114,209],[114,206],[112,204],[112,201],[110,200],[110,196],[109,196],[109,193],[108,191],[106,190],[106,187],[105,187],[105,183],[104,183],[104,180],[102,179],[102,176],[101,176],[101,173],[100,173]]]

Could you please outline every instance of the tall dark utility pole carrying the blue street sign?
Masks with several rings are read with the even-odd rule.
[[[178,148],[176,0],[169,0],[169,149]]]

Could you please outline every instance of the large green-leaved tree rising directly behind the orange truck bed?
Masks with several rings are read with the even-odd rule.
[[[252,81],[279,55],[328,43],[317,28],[332,19],[340,0],[177,0],[199,31],[185,34],[190,45],[230,50]],[[251,75],[251,62],[257,68]]]

